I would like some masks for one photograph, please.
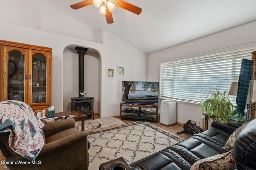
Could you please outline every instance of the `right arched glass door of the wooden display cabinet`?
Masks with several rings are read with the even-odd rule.
[[[48,53],[32,50],[30,65],[30,94],[31,104],[48,103]]]

